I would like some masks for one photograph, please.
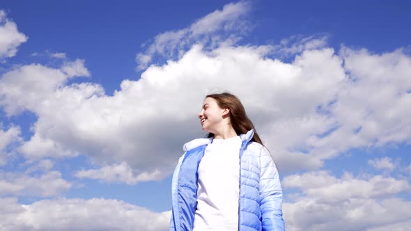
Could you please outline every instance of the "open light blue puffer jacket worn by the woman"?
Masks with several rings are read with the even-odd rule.
[[[281,212],[282,191],[277,168],[263,145],[250,142],[251,130],[241,134],[240,148],[240,207],[238,230],[285,230]],[[171,231],[193,229],[197,205],[197,170],[206,146],[212,138],[198,138],[186,143],[171,186],[173,210]]]

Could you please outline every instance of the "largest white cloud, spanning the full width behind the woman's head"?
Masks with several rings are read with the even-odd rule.
[[[93,83],[67,85],[60,70],[23,66],[3,75],[0,104],[9,114],[29,110],[38,116],[34,135],[20,149],[25,157],[87,154],[102,167],[84,170],[87,177],[124,162],[132,173],[122,168],[105,179],[129,183],[139,182],[139,175],[171,173],[183,143],[203,136],[196,114],[212,88],[242,99],[283,172],[319,168],[350,148],[410,140],[411,94],[405,89],[411,87],[411,58],[401,51],[375,55],[343,48],[339,56],[330,48],[309,49],[284,63],[265,57],[264,50],[206,53],[194,46],[179,61],[149,67],[138,81],[124,80],[113,96]],[[371,76],[377,66],[387,74]],[[401,94],[374,100],[374,88]]]

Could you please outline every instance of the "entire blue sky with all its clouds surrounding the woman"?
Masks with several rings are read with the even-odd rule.
[[[166,230],[171,172],[219,89],[276,161],[287,230],[411,225],[407,1],[0,10],[0,230]]]

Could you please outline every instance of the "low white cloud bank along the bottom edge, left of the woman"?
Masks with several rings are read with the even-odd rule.
[[[0,198],[0,230],[166,230],[171,212],[148,209],[118,200],[93,198],[40,200],[19,205],[15,198]]]

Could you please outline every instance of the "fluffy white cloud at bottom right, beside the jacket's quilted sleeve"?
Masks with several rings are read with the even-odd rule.
[[[407,180],[315,171],[285,177],[283,187],[301,189],[284,203],[288,230],[405,230],[411,219],[411,202],[395,197],[410,191]]]

